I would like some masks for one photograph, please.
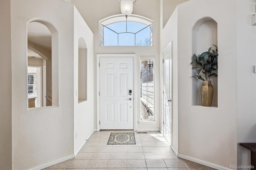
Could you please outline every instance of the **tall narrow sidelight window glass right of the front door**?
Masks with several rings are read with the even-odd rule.
[[[154,60],[141,60],[140,65],[140,118],[154,121]]]

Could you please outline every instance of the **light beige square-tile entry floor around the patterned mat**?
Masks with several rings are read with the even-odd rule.
[[[101,130],[93,132],[75,158],[45,170],[214,170],[178,158],[160,132],[136,133],[136,144],[109,145],[111,132],[132,130]]]

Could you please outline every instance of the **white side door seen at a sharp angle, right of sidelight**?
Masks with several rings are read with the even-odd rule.
[[[172,144],[172,45],[164,50],[164,136]]]

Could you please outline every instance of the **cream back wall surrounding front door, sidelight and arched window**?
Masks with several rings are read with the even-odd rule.
[[[136,54],[136,64],[135,67],[135,73],[136,73],[136,95],[134,96],[136,98],[136,129],[159,129],[160,128],[160,93],[155,93],[155,113],[156,113],[156,124],[138,124],[138,121],[140,120],[140,55],[144,56],[156,56],[156,64],[155,64],[155,91],[160,91],[160,83],[161,82],[159,78],[159,23],[160,23],[160,8],[159,8],[159,1],[158,0],[139,0],[136,2],[136,5],[133,8],[132,14],[144,16],[146,18],[149,18],[154,21],[154,38],[153,43],[154,46],[120,46],[120,47],[107,47],[107,46],[99,46],[99,25],[98,21],[102,20],[108,16],[113,16],[116,14],[121,14],[120,11],[120,3],[117,0],[72,0],[71,1],[92,32],[94,33],[94,85],[96,85],[96,66],[98,65],[96,63],[96,54],[98,53],[135,53]],[[99,5],[100,4],[100,5]],[[145,6],[146,4],[146,6]],[[94,88],[94,95],[96,96],[96,88]],[[97,122],[96,122],[96,97],[94,99],[94,111],[95,111],[95,118],[94,118],[94,128],[96,128]]]

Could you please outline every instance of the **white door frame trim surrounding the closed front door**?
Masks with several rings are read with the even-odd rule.
[[[99,97],[99,92],[100,92],[100,67],[99,67],[99,63],[100,63],[100,57],[132,57],[132,64],[133,64],[133,130],[136,129],[136,115],[135,115],[135,111],[136,111],[136,78],[135,78],[135,59],[136,59],[136,54],[97,54],[97,62],[96,62],[96,67],[97,67],[97,92],[96,92],[96,96],[97,96],[97,131],[100,131],[100,97]]]

